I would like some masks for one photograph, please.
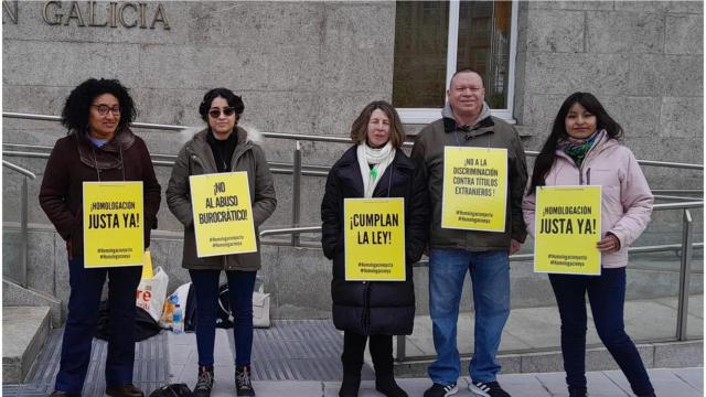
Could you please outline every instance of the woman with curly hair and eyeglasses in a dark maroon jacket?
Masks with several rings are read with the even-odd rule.
[[[140,397],[132,385],[135,297],[141,267],[84,268],[83,182],[141,181],[145,195],[145,247],[157,228],[160,185],[145,141],[130,131],[136,109],[128,90],[114,79],[90,78],[71,92],[62,112],[68,136],[60,139],[46,162],[40,204],[68,253],[68,315],[52,397],[81,396],[90,362],[98,304],[108,276],[110,328],[106,394]]]

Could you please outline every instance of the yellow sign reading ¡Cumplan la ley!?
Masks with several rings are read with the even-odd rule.
[[[405,200],[345,198],[345,280],[405,281]]]

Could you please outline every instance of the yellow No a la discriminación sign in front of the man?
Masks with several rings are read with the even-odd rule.
[[[507,149],[446,147],[441,227],[505,232]]]

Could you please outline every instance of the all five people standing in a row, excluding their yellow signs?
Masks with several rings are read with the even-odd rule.
[[[415,318],[413,264],[429,257],[429,311],[436,361],[428,373],[432,385],[425,397],[458,391],[461,363],[457,326],[461,291],[470,273],[474,307],[474,346],[469,366],[471,393],[510,396],[496,380],[495,360],[510,315],[509,256],[517,253],[527,233],[534,234],[535,190],[553,185],[600,185],[600,276],[549,275],[561,319],[561,352],[570,397],[587,396],[585,369],[587,313],[591,304],[596,328],[639,397],[654,396],[638,351],[624,332],[623,303],[628,247],[646,227],[653,196],[632,152],[618,141],[622,129],[588,93],[569,96],[527,187],[524,149],[515,129],[491,115],[480,74],[461,69],[451,78],[441,118],[416,137],[411,155],[395,108],[386,101],[365,106],[351,127],[354,146],[329,172],[321,204],[323,254],[333,261],[332,318],[343,331],[343,380],[339,395],[357,396],[365,346],[375,369],[375,388],[385,396],[407,393],[395,382],[393,335],[411,334]],[[221,271],[228,280],[235,316],[235,384],[238,396],[254,396],[250,382],[253,344],[252,297],[260,268],[258,251],[200,258],[195,247],[189,176],[247,172],[253,222],[257,230],[275,211],[272,178],[258,137],[237,126],[244,111],[240,97],[226,88],[207,92],[199,106],[206,128],[179,152],[167,187],[167,203],[184,225],[183,267],[196,297],[197,397],[207,397],[214,383],[214,340]],[[88,79],[66,100],[62,122],[68,136],[60,139],[46,165],[40,203],[66,240],[71,297],[62,345],[61,368],[52,397],[79,396],[88,369],[90,336],[98,302],[109,279],[110,330],[106,363],[106,394],[140,397],[132,383],[135,360],[135,290],[139,267],[84,268],[82,183],[141,181],[145,196],[145,246],[157,228],[160,185],[142,139],[129,124],[136,110],[117,81]],[[507,153],[505,225],[500,232],[442,227],[445,148],[500,148]],[[354,281],[345,277],[344,202],[346,198],[404,198],[404,281]],[[257,234],[256,234],[257,235]]]

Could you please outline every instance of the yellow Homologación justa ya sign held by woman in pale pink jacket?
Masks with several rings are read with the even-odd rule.
[[[600,186],[538,186],[534,271],[600,275]]]

